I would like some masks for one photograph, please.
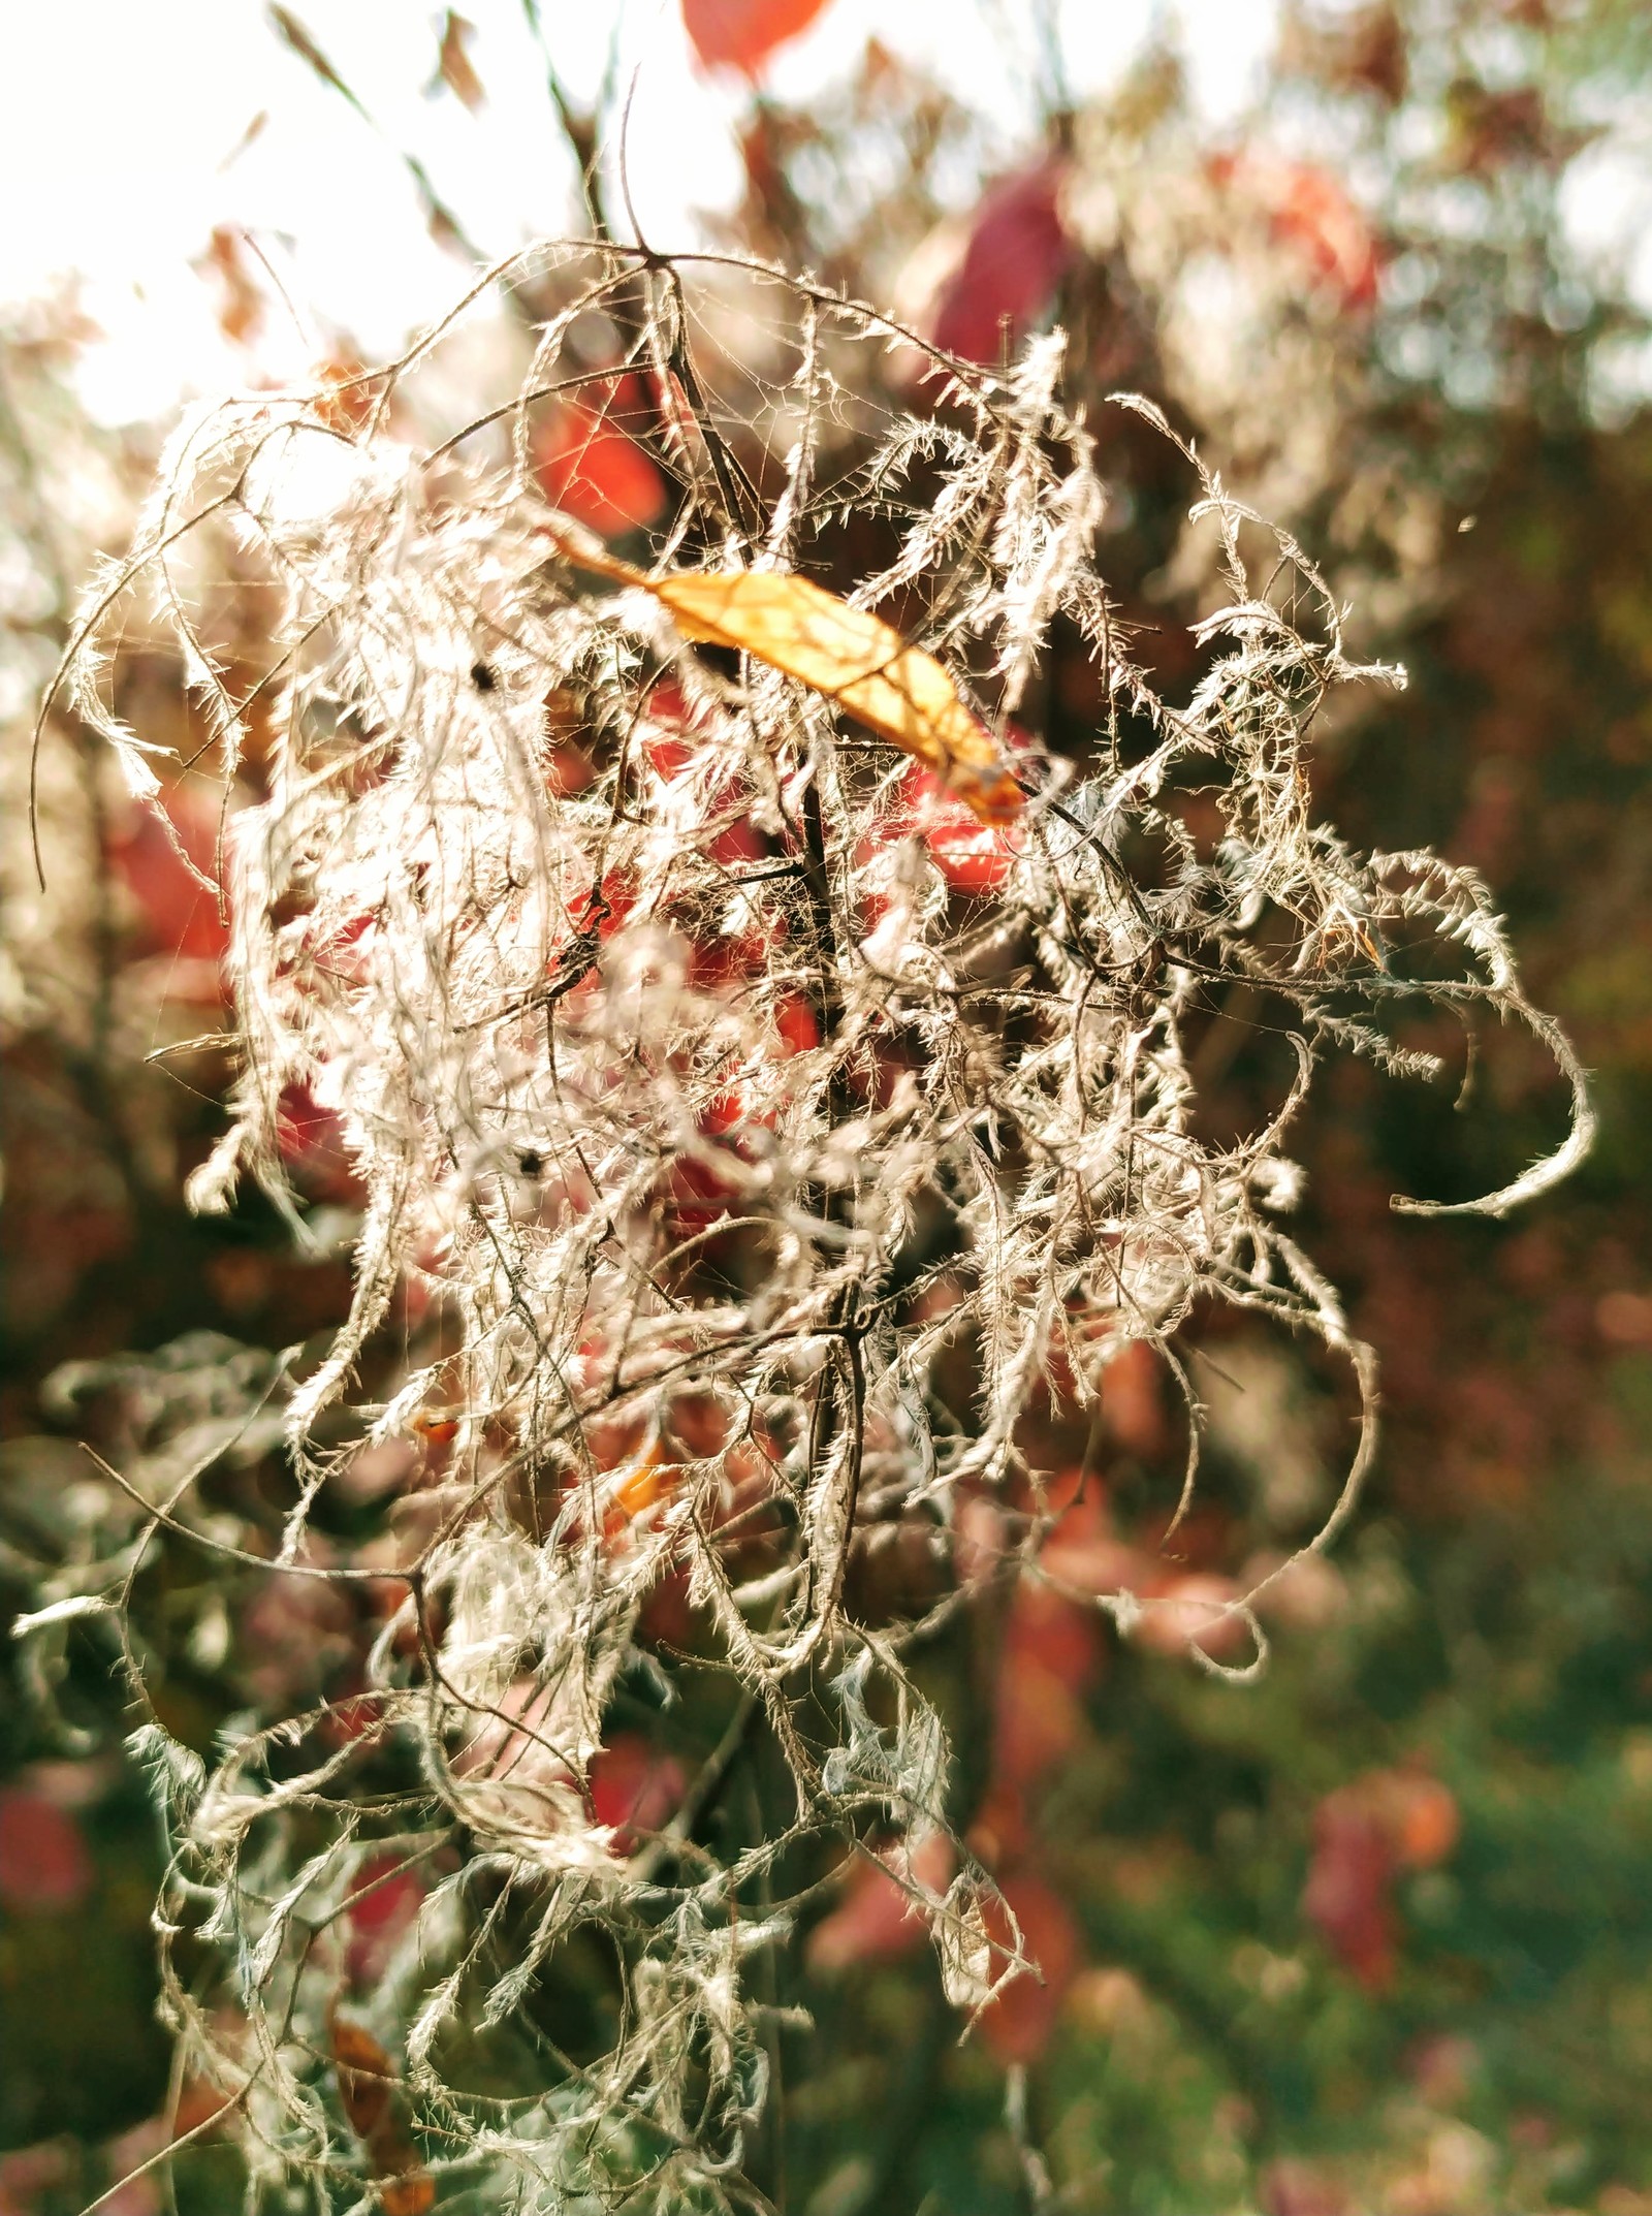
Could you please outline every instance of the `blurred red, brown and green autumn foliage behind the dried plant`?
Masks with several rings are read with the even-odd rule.
[[[303,27],[268,24],[270,84],[288,93],[248,84],[246,104],[279,109],[303,82],[390,175],[412,164],[410,204],[456,290],[487,215],[463,199],[463,131],[500,129],[489,40],[507,13],[512,35],[523,24],[503,0],[474,29],[421,18],[427,151],[379,120],[370,55],[326,82],[343,13],[314,7],[308,55]],[[671,71],[684,102],[711,86],[717,160],[737,148],[704,228],[892,301],[981,361],[1065,326],[1109,483],[1103,567],[1167,689],[1194,667],[1207,550],[1165,454],[1105,394],[1158,399],[1298,534],[1353,605],[1355,652],[1411,671],[1408,691],[1324,729],[1315,798],[1360,844],[1431,842],[1488,875],[1535,999],[1597,1073],[1603,1139],[1512,1225],[1395,1219],[1391,1192],[1510,1177],[1555,1143],[1563,1101],[1515,1037],[1488,1042],[1464,1101],[1346,1064],[1298,1146],[1307,1243],[1384,1365],[1366,1509],[1329,1564],[1280,1589],[1256,1689],[1211,1682],[1165,1642],[1103,1638],[1034,1591],[992,1662],[937,1664],[974,1671],[952,1689],[981,1724],[972,1844],[1045,1981],[959,2048],[921,1930],[866,1866],[846,1879],[797,1950],[815,2030],[786,2041],[786,2205],[1652,2212],[1652,273],[1632,259],[1652,208],[1652,18],[1636,0],[1304,0],[1267,16],[1267,66],[1214,109],[1198,16],[1165,18],[1123,69],[1074,89],[1061,9],[981,13],[1016,86],[1010,124],[990,89],[972,104],[895,38],[837,66],[833,0],[684,0],[693,80],[655,22],[655,109]],[[536,18],[525,9],[529,31]],[[556,18],[547,7],[540,75],[560,58]],[[38,91],[73,137],[62,86]],[[547,173],[571,175],[569,146],[598,155],[589,208],[569,191],[567,222],[622,228],[624,71],[600,89],[551,66],[547,93]],[[190,281],[241,381],[275,375],[295,312],[312,361],[348,363],[376,337],[283,301],[279,242],[208,215],[197,246]],[[80,1438],[117,1463],[159,1440],[186,1460],[241,1405],[237,1363],[259,1361],[246,1350],[308,1341],[348,1285],[352,1192],[303,1099],[290,1161],[317,1254],[297,1256],[257,1201],[210,1223],[182,1208],[228,1079],[210,1037],[221,924],[62,711],[38,765],[35,884],[33,702],[168,428],[89,406],[97,346],[73,286],[4,308],[9,1613],[38,1607],[117,1514]],[[923,408],[910,375],[899,352],[866,366]],[[662,488],[622,410],[591,432],[547,434],[547,490],[602,530],[651,521]],[[235,574],[221,587],[255,669],[257,592]],[[179,758],[208,738],[159,645],[128,640],[117,700]],[[1083,656],[1059,645],[1052,742],[1076,742],[1098,707]],[[184,778],[168,798],[210,862],[217,784]],[[1247,1010],[1229,1017],[1200,1079],[1238,1126],[1273,1061]],[[1450,1037],[1413,1044],[1453,1055]],[[1220,1598],[1324,1511],[1344,1423],[1313,1365],[1242,1321],[1200,1343],[1211,1451],[1174,1547],[1158,1533],[1180,1425],[1134,1363],[1109,1378],[1103,1485],[1061,1542],[1114,1549],[1114,1576],[1143,1589]],[[244,1516],[257,1456],[252,1440],[219,1480],[244,1489],[226,1500]],[[168,1609],[188,1631],[157,1635],[151,1664],[182,1740],[343,1684],[348,1627],[290,1589],[235,1607],[153,1596],[153,1622]],[[27,1653],[0,1704],[0,2212],[55,2216],[202,2114],[151,2017],[155,1824],[120,1755],[109,1651],[66,1627]],[[1010,2065],[1028,2072],[1023,2123],[1005,2114]],[[228,2205],[210,2134],[175,2187],[146,2174],[104,2207],[146,2216],[168,2192]]]

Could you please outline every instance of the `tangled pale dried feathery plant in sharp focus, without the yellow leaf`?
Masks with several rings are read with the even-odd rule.
[[[1282,1148],[1322,1057],[1431,1075],[1391,1035],[1417,1002],[1526,1024],[1572,1088],[1572,1130],[1473,1203],[1488,1214],[1579,1161],[1590,1108],[1484,884],[1428,853],[1355,855],[1311,820],[1320,702],[1397,674],[1344,658],[1309,558],[1191,450],[1225,585],[1205,676],[1171,707],[1132,663],[1092,567],[1096,432],[1059,406],[1059,335],[1005,377],[932,357],[935,412],[877,423],[866,348],[917,341],[779,273],[547,246],[492,277],[560,301],[512,406],[412,445],[394,408],[425,346],[348,390],[206,412],[69,658],[82,714],[159,807],[142,736],[100,691],[100,640],[151,589],[228,793],[255,705],[215,667],[193,536],[233,525],[283,594],[264,798],[224,824],[235,1121],[193,1186],[224,1210],[255,1179],[299,1223],[281,1115],[301,1088],[361,1188],[348,1323],[286,1398],[281,1573],[383,1591],[381,1558],[310,1529],[317,1500],[363,1447],[452,1434],[365,1658],[365,1731],[319,1706],[248,1722],[206,1764],[159,1724],[140,1735],[173,1839],[166,2005],[188,2070],[233,2096],[255,2189],[368,2192],[328,2023],[352,1904],[405,1864],[423,1910],[354,2005],[405,2054],[438,2178],[487,2207],[762,2205],[742,2163],[768,2028],[746,1963],[784,1939],[797,1873],[824,1868],[810,1839],[892,1835],[961,2010],[1021,1970],[959,1839],[950,1888],[921,1875],[937,1857],[917,1850],[954,1826],[943,1722],[908,1658],[968,1598],[970,1494],[1010,1505],[999,1576],[1039,1576],[1030,1403],[1094,1405],[1121,1347],[1149,1341],[1196,1440],[1174,1334],[1202,1299],[1273,1316],[1357,1383],[1324,1547],[1371,1460],[1375,1385],[1284,1230],[1300,1177]],[[596,308],[620,352],[602,390],[636,375],[678,485],[653,574],[788,572],[835,519],[875,521],[890,558],[850,605],[977,705],[1025,793],[1008,829],[961,822],[824,691],[751,656],[713,667],[655,596],[569,558],[534,425],[596,388],[578,352]],[[771,456],[768,499],[742,452]],[[1105,680],[1085,765],[1014,725],[1054,623]],[[1194,787],[1216,840],[1178,807]],[[941,869],[961,847],[974,900]],[[1233,988],[1289,1010],[1295,1079],[1218,1146],[1196,1130],[1185,1030]],[[959,1345],[970,1412],[935,1383]],[[1194,1465],[1196,1447],[1189,1487]],[[133,1573],[159,1520],[215,1542],[199,1467],[168,1485]],[[932,1600],[861,1620],[853,1564],[892,1533],[932,1558]],[[640,1631],[682,1573],[698,1666],[742,1700],[675,1815],[616,1833],[591,1764],[616,1686],[640,1671],[669,1693],[686,1666]],[[1240,1678],[1262,1662],[1251,1600]],[[1154,1602],[1098,1607],[1129,1631]],[[764,1735],[793,1806],[720,1857],[709,1815]],[[587,1930],[616,2008],[607,2045],[574,2059],[538,1999]],[[494,2025],[536,2065],[483,2096],[461,2030]],[[423,2185],[394,2189],[412,2205]]]

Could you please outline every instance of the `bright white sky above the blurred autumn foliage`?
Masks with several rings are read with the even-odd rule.
[[[441,9],[421,0],[295,0],[295,13],[361,95],[383,137],[326,91],[268,29],[264,0],[49,0],[7,20],[0,73],[0,299],[78,270],[104,330],[82,392],[106,421],[164,414],[184,392],[246,381],[190,266],[215,224],[246,226],[301,310],[348,326],[370,355],[447,306],[463,284],[423,230],[399,151],[489,253],[569,219],[571,166],[545,98],[520,0],[467,0],[489,102],[469,115],[425,98]],[[678,0],[540,0],[562,80],[598,84],[618,29],[636,71],[629,171],[653,244],[689,244],[695,211],[737,193],[733,124],[744,89],[689,62]],[[1114,78],[1167,13],[1163,0],[1059,0],[1074,93]],[[1174,11],[1200,104],[1233,113],[1273,42],[1276,0],[1180,0]],[[779,98],[844,75],[875,31],[923,60],[1005,140],[1028,115],[1019,60],[1032,0],[830,0],[768,73]],[[268,120],[241,144],[252,120]],[[239,148],[239,151],[237,151]],[[292,332],[261,361],[297,372]],[[270,359],[275,352],[275,359]]]

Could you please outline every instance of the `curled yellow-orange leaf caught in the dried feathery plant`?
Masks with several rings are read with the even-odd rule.
[[[691,570],[644,576],[580,532],[560,530],[565,554],[600,576],[640,585],[684,638],[737,647],[810,685],[846,714],[932,769],[981,822],[1021,813],[1023,793],[985,725],[941,663],[879,616],[839,601],[806,576],[771,570]]]

